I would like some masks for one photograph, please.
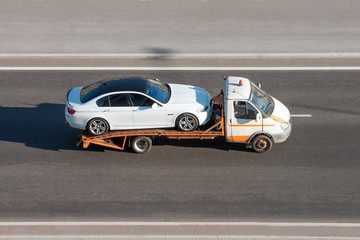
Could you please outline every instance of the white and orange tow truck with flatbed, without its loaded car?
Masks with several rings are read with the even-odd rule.
[[[124,150],[131,146],[136,153],[152,148],[155,137],[169,139],[214,139],[245,144],[258,153],[268,152],[273,143],[284,142],[291,132],[290,112],[279,100],[270,96],[249,79],[224,76],[225,92],[212,98],[213,116],[207,127],[185,132],[175,129],[141,129],[110,131],[100,136],[82,132],[77,146],[90,144]],[[126,145],[128,143],[128,145]]]

